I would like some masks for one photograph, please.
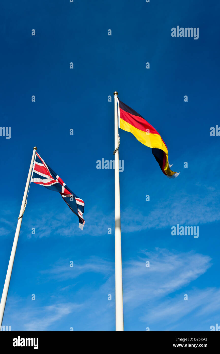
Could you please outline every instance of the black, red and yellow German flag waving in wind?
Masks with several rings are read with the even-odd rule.
[[[132,133],[142,144],[152,149],[152,153],[159,163],[162,172],[168,178],[179,175],[171,171],[168,162],[168,150],[160,134],[135,110],[118,99],[119,128]]]

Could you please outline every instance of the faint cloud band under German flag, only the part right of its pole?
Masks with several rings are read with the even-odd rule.
[[[127,207],[121,215],[121,229],[123,232],[137,232],[146,229],[162,229],[173,225],[199,225],[220,221],[218,197],[215,193],[208,195],[175,195],[160,202],[144,215],[143,212],[135,211]],[[135,215],[135,217],[133,217]]]

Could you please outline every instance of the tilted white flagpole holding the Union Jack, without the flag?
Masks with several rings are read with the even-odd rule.
[[[32,168],[33,168],[33,163],[34,163],[34,159],[35,159],[36,150],[37,150],[37,148],[35,146],[34,147],[34,151],[33,151],[33,155],[32,155],[32,159],[31,159],[30,169],[29,169],[29,172],[28,172],[28,179],[27,179],[27,182],[26,182],[25,190],[24,190],[22,206],[20,208],[20,214],[19,214],[19,218],[18,218],[17,228],[16,228],[16,232],[15,232],[15,235],[14,235],[14,242],[13,242],[13,246],[12,246],[12,250],[11,250],[10,260],[9,260],[9,263],[8,263],[8,270],[7,270],[7,274],[6,274],[6,278],[5,278],[5,285],[4,285],[2,296],[1,296],[0,326],[2,324],[2,319],[3,319],[3,316],[4,316],[4,312],[5,312],[5,304],[6,304],[7,295],[8,295],[8,287],[9,287],[10,279],[11,279],[11,273],[12,273],[12,268],[13,268],[13,263],[14,263],[14,256],[15,256],[15,253],[16,253],[18,237],[19,237],[19,233],[20,233],[20,226],[22,224],[22,217],[23,217],[23,214],[24,214],[25,206],[26,206],[26,199],[27,199],[27,195],[28,195],[28,187],[29,187],[29,184],[30,184],[31,173],[32,173]]]

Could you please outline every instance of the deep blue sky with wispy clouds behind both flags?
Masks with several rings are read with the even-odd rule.
[[[23,0],[1,7],[0,125],[11,127],[10,139],[0,137],[1,291],[35,145],[85,201],[82,232],[58,193],[31,184],[3,325],[115,329],[114,171],[96,169],[97,160],[114,158],[115,90],[159,131],[172,170],[181,172],[166,178],[151,150],[120,131],[125,330],[220,325],[220,137],[210,136],[220,125],[220,5]],[[172,37],[178,25],[199,28],[199,39]],[[172,236],[177,224],[198,226],[199,237]]]

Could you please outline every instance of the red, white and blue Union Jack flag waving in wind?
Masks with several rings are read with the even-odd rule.
[[[78,198],[77,195],[74,194],[69,187],[67,187],[57,173],[55,173],[37,153],[31,182],[43,185],[50,190],[55,190],[55,192],[59,192],[73,213],[78,216],[79,228],[83,230],[83,226],[85,224],[85,220],[83,219],[84,201]]]

